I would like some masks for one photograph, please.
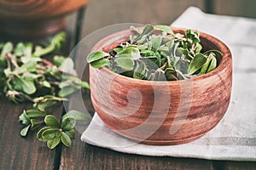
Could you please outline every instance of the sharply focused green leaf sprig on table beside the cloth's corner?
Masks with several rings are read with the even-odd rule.
[[[46,111],[38,111],[38,108],[35,108],[23,111],[19,116],[19,121],[25,125],[20,131],[21,136],[26,136],[30,129],[34,131],[38,127],[46,125],[38,131],[37,137],[39,141],[47,142],[49,149],[54,149],[60,143],[69,147],[71,139],[75,136],[76,121],[90,122],[90,117],[79,111],[68,111],[59,122],[55,116],[47,114]]]

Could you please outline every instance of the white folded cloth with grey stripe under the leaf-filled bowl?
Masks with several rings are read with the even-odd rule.
[[[113,133],[95,114],[82,141],[120,152],[147,156],[256,161],[256,20],[204,14],[188,8],[172,26],[204,31],[228,44],[233,54],[229,110],[205,136],[187,144],[137,144]]]

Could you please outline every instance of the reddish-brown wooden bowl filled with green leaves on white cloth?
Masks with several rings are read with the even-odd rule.
[[[172,28],[184,34],[184,29]],[[120,31],[97,42],[92,51],[127,40]],[[92,104],[107,127],[143,144],[183,144],[215,127],[230,104],[232,58],[217,38],[200,32],[204,49],[217,49],[218,67],[182,81],[154,82],[90,67]]]

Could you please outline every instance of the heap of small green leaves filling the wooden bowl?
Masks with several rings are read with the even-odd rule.
[[[158,32],[158,33],[155,33]],[[130,39],[109,51],[92,52],[92,67],[108,67],[127,77],[150,81],[183,80],[206,74],[217,67],[218,50],[201,52],[200,34],[187,30],[173,33],[170,26],[131,27]]]

